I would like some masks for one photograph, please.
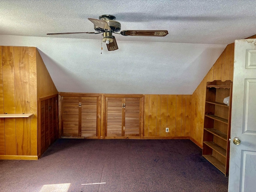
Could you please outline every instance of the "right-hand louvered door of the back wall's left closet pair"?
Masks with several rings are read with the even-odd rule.
[[[97,97],[82,97],[81,136],[97,136]]]

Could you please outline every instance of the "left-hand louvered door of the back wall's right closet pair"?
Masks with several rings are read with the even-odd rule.
[[[106,136],[122,136],[123,98],[106,98]]]

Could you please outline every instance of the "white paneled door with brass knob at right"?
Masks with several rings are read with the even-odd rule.
[[[233,143],[236,137],[239,145]],[[235,41],[230,138],[228,191],[255,192],[256,39]]]

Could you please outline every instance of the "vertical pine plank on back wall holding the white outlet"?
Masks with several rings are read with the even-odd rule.
[[[166,136],[168,95],[161,95],[160,136]]]

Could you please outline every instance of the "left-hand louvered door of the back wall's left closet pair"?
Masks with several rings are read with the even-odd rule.
[[[79,136],[79,97],[63,97],[62,100],[62,136]]]

